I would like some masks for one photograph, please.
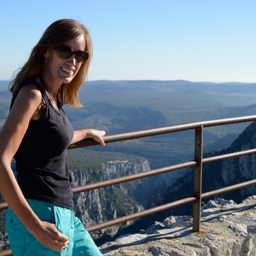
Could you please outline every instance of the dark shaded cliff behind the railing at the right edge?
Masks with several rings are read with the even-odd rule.
[[[245,149],[256,148],[256,122],[251,123],[243,133],[227,149],[218,152],[209,152],[203,157],[223,155]],[[256,155],[245,155],[203,165],[202,192],[212,191],[221,187],[227,187],[240,182],[256,179]],[[256,186],[245,187],[233,192],[224,193],[225,199],[233,199],[240,202],[243,198],[255,194]],[[162,203],[172,202],[193,195],[193,168],[187,170],[186,174],[179,178],[172,187],[169,187]],[[190,210],[181,208],[186,214]],[[181,210],[172,209],[171,214],[180,214]]]

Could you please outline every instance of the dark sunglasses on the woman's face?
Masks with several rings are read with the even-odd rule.
[[[78,63],[84,63],[89,58],[89,53],[85,51],[74,52],[71,47],[64,44],[60,44],[53,47],[56,50],[57,55],[61,59],[69,59],[72,55],[75,55],[75,60]]]

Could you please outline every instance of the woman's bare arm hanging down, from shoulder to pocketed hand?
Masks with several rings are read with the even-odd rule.
[[[68,237],[54,224],[41,221],[32,211],[11,170],[11,160],[21,144],[32,119],[37,119],[42,100],[34,85],[27,85],[18,93],[14,105],[0,131],[0,193],[24,226],[43,245],[54,251],[68,247]]]

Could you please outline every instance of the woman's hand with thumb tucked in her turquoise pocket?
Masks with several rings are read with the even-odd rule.
[[[55,224],[42,221],[40,226],[32,232],[37,241],[53,251],[63,252],[69,247],[69,238],[56,229]]]

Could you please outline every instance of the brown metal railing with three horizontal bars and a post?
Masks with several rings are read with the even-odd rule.
[[[123,222],[127,222],[132,219],[138,219],[140,217],[144,217],[149,214],[158,213],[170,208],[174,208],[183,204],[193,202],[193,231],[195,232],[199,231],[200,221],[201,221],[201,200],[202,199],[256,184],[256,179],[255,179],[255,180],[245,181],[239,184],[235,184],[229,187],[224,187],[217,190],[202,193],[203,164],[256,153],[256,149],[248,149],[248,150],[238,151],[238,152],[229,153],[225,155],[218,155],[218,156],[203,158],[203,128],[226,125],[226,124],[251,122],[255,120],[256,120],[256,115],[243,116],[243,117],[231,117],[231,118],[183,123],[183,124],[177,124],[177,125],[171,125],[171,126],[165,126],[165,127],[159,127],[159,128],[150,128],[150,129],[125,132],[125,133],[115,133],[115,134],[106,135],[104,137],[104,142],[112,143],[117,141],[138,139],[138,138],[155,136],[155,135],[160,135],[165,133],[175,133],[175,132],[194,129],[195,130],[195,158],[193,161],[189,161],[189,162],[183,162],[180,164],[170,165],[170,166],[158,168],[155,170],[144,171],[137,174],[131,174],[128,176],[122,176],[118,178],[109,179],[106,181],[99,181],[99,182],[91,183],[88,185],[83,185],[80,187],[74,187],[72,188],[74,193],[85,192],[85,191],[93,190],[96,188],[107,187],[107,186],[111,186],[111,185],[115,185],[115,184],[119,184],[127,181],[133,181],[133,180],[141,179],[144,177],[149,177],[149,176],[153,176],[153,175],[157,175],[157,174],[161,174],[169,171],[175,171],[175,170],[183,169],[186,167],[195,166],[193,196],[186,197],[171,203],[166,203],[154,208],[149,208],[138,213],[132,213],[123,217],[119,217],[117,219],[112,219],[99,224],[91,225],[87,227],[86,230],[88,232],[93,232],[93,231],[104,229],[113,225],[121,224]],[[69,149],[87,147],[87,146],[97,145],[97,144],[98,143],[93,139],[84,139],[76,144],[70,145]],[[7,203],[0,203],[0,210],[6,209],[6,208],[8,208]],[[0,256],[11,256],[11,255],[12,255],[11,250],[0,252]]]

